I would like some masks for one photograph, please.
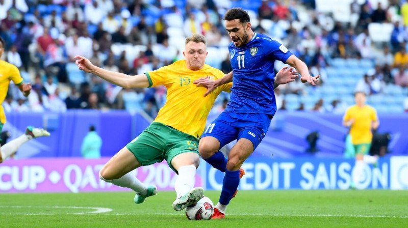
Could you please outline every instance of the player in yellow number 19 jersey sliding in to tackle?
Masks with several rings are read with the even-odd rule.
[[[185,60],[136,76],[111,72],[92,65],[83,56],[75,56],[79,69],[97,75],[123,88],[155,87],[167,88],[167,102],[160,109],[157,118],[138,137],[122,148],[100,170],[99,178],[121,187],[136,191],[134,201],[143,203],[146,197],[155,195],[155,186],[146,186],[131,172],[142,165],[166,160],[179,176],[174,188],[176,200],[173,209],[181,211],[196,203],[203,194],[201,187],[193,188],[196,168],[200,156],[198,138],[203,132],[208,113],[221,91],[230,92],[231,83],[217,87],[209,96],[203,97],[207,89],[196,87],[193,81],[201,77],[214,80],[224,74],[205,64],[207,58],[206,38],[194,34],[186,39]],[[295,71],[279,71],[281,84],[292,81]],[[278,81],[278,80],[277,80]]]

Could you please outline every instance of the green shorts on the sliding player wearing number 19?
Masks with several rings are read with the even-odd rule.
[[[159,122],[153,122],[139,136],[133,139],[126,148],[130,150],[142,165],[151,165],[163,160],[171,169],[171,159],[176,155],[198,153],[198,138],[183,133]],[[178,173],[177,173],[178,174]]]

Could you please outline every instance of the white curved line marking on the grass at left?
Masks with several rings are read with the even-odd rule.
[[[94,207],[72,207],[72,206],[0,206],[0,208],[68,208],[68,209],[91,209],[95,211],[90,212],[78,212],[78,213],[64,213],[70,215],[83,215],[83,214],[98,214],[111,212],[110,208],[94,208]],[[0,213],[0,214],[13,214],[13,215],[58,215],[62,213]]]

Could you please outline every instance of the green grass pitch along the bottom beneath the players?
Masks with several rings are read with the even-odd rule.
[[[206,191],[214,205],[219,191]],[[408,227],[408,191],[239,191],[223,220],[189,221],[175,193],[143,204],[133,192],[0,194],[0,227]],[[109,208],[110,212],[90,213]],[[75,214],[82,213],[82,214]]]

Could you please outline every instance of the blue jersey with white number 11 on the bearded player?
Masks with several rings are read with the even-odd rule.
[[[279,60],[286,63],[292,53],[264,34],[254,34],[241,47],[231,42],[228,49],[234,76],[230,102],[225,111],[274,115],[274,62]]]

